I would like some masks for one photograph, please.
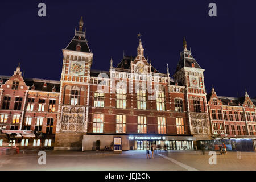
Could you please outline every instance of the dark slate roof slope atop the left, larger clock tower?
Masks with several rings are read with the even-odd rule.
[[[76,51],[77,44],[80,44],[81,46],[81,52],[90,52],[90,48],[88,46],[87,40],[81,36],[81,39],[79,40],[79,36],[74,36],[71,42],[68,44],[68,46],[65,48],[67,50]]]

